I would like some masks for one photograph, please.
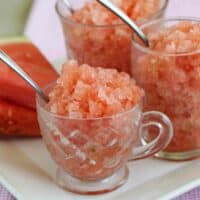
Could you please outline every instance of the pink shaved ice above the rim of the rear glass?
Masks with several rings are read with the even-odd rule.
[[[112,0],[132,20],[148,18],[160,8],[158,0]],[[108,11],[97,1],[88,2],[79,10],[76,10],[71,18],[81,24],[88,25],[114,25],[122,24],[122,21],[112,12]]]

